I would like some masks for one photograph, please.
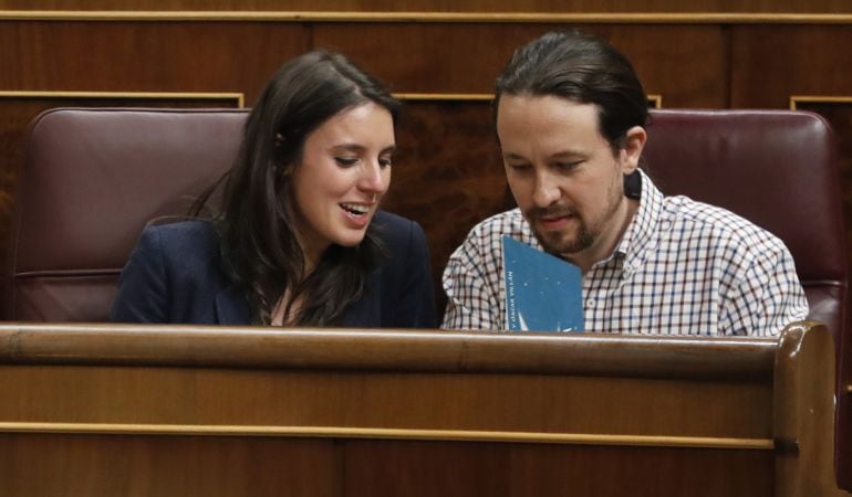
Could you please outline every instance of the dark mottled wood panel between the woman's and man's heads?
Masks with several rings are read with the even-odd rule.
[[[426,230],[437,283],[451,251],[474,224],[501,210],[506,175],[489,101],[406,104],[384,205]],[[446,298],[440,285],[436,298],[443,308]]]

